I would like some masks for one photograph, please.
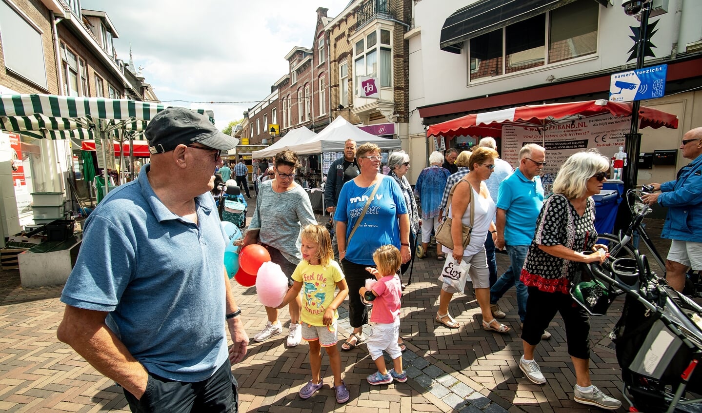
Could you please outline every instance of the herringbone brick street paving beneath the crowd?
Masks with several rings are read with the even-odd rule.
[[[253,200],[250,204],[252,212]],[[649,223],[647,228],[656,228],[656,222]],[[656,231],[651,231],[651,237],[656,238],[658,233],[660,224]],[[661,246],[662,251],[667,248]],[[405,291],[401,334],[409,348],[404,353],[405,368],[411,377],[407,383],[371,388],[365,377],[376,369],[366,346],[362,345],[355,351],[341,353],[345,382],[351,393],[349,402],[336,404],[326,357],[322,361],[324,388],[309,400],[300,400],[297,392],[310,379],[307,346],[286,348],[286,337],[281,334],[264,343],[252,343],[249,356],[235,366],[241,411],[597,411],[572,400],[575,379],[559,317],[549,327],[552,339],[542,341],[538,348],[537,360],[548,383],[536,386],[524,379],[517,367],[522,342],[514,292],[501,302],[508,313],[502,321],[513,329],[510,334],[482,330],[472,292],[465,296],[456,294],[449,307],[461,323],[460,329],[449,330],[435,323],[439,293],[436,278],[441,264],[433,255],[418,259],[412,283]],[[507,264],[506,255],[498,255],[500,272]],[[265,310],[256,299],[255,288],[235,285],[234,290],[244,311],[246,330],[253,337],[265,324]],[[55,338],[63,309],[58,301],[60,291],[60,286],[22,289],[18,271],[0,271],[0,411],[128,411],[121,389]],[[606,336],[621,312],[621,305],[622,299],[618,299],[609,311],[610,316],[592,318],[590,335],[592,380],[618,398],[621,397],[619,368],[614,346]],[[345,321],[345,309],[340,309],[340,313],[340,334],[347,337],[350,327]],[[282,311],[285,327],[286,316],[286,311]]]

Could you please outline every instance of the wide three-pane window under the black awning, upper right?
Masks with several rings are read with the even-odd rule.
[[[597,53],[599,5],[577,0],[468,42],[468,81]]]

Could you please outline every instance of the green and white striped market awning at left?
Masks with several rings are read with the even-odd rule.
[[[0,95],[0,130],[52,140],[100,138],[123,130],[143,139],[148,121],[170,106],[104,97],[58,95]],[[210,110],[192,109],[209,116]]]

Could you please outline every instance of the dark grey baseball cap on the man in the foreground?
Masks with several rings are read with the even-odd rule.
[[[199,142],[212,149],[228,151],[239,143],[235,137],[221,133],[210,121],[185,107],[169,107],[152,119],[144,132],[152,154],[163,154],[176,149],[179,144]]]

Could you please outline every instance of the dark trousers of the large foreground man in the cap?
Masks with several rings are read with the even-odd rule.
[[[146,391],[140,400],[124,390],[132,412],[198,413],[239,411],[237,381],[227,360],[209,379],[187,383],[164,379],[149,373]]]

